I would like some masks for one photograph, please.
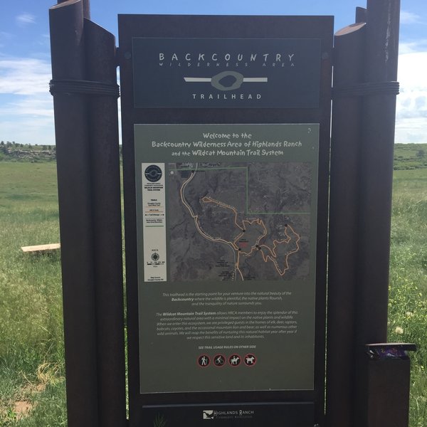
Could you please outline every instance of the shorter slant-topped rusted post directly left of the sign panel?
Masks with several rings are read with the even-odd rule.
[[[117,88],[115,38],[85,21],[88,80]],[[100,426],[126,426],[122,221],[117,95],[89,100]]]

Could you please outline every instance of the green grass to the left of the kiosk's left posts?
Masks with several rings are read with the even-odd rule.
[[[21,251],[59,241],[56,164],[1,162],[0,182],[0,426],[60,426],[60,256]],[[18,401],[33,405],[31,417],[19,419]]]

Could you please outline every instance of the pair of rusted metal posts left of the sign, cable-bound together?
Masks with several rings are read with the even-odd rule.
[[[49,11],[68,426],[123,427],[115,41],[88,20],[88,5],[60,1]],[[102,127],[102,122],[110,125]]]

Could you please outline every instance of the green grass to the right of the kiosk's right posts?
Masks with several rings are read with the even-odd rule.
[[[413,342],[411,427],[427,426],[427,169],[394,172],[389,342]]]

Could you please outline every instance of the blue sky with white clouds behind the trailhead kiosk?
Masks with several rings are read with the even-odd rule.
[[[50,0],[1,0],[0,140],[55,144],[48,9]],[[91,19],[117,36],[117,14],[333,15],[354,22],[366,0],[90,0]],[[116,40],[118,43],[118,41]],[[401,0],[395,142],[427,142],[427,4]]]

